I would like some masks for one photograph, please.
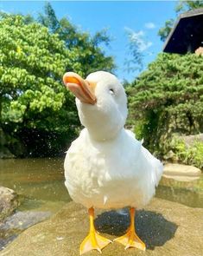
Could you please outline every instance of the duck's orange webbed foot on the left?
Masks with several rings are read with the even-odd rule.
[[[99,235],[97,231],[90,232],[79,246],[79,255],[92,250],[98,250],[99,253],[102,253],[101,250],[111,242],[111,240]]]

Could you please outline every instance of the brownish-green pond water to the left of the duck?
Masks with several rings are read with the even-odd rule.
[[[63,159],[0,160],[0,185],[25,197],[22,207],[52,211],[70,200],[64,186]],[[55,209],[54,209],[55,208]],[[49,209],[48,209],[49,210]]]

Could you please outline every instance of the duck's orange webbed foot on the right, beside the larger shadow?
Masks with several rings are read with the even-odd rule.
[[[130,247],[136,247],[140,250],[145,251],[146,250],[146,246],[143,243],[143,241],[137,236],[137,234],[135,233],[134,230],[129,230],[127,231],[126,234],[124,234],[121,237],[118,237],[117,239],[115,239],[114,241],[117,241],[119,243],[121,243],[122,245],[124,245],[124,249],[128,249]]]

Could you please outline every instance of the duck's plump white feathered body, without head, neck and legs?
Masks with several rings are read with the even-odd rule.
[[[161,162],[124,128],[107,141],[93,140],[84,128],[65,160],[68,192],[87,208],[143,207],[161,174]]]

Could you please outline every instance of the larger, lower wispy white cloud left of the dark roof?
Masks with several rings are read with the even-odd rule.
[[[153,44],[152,42],[145,40],[144,38],[145,34],[143,30],[136,32],[127,27],[125,27],[124,30],[128,34],[130,43],[136,43],[137,48],[140,52],[143,52],[144,50],[149,49],[149,47]]]

